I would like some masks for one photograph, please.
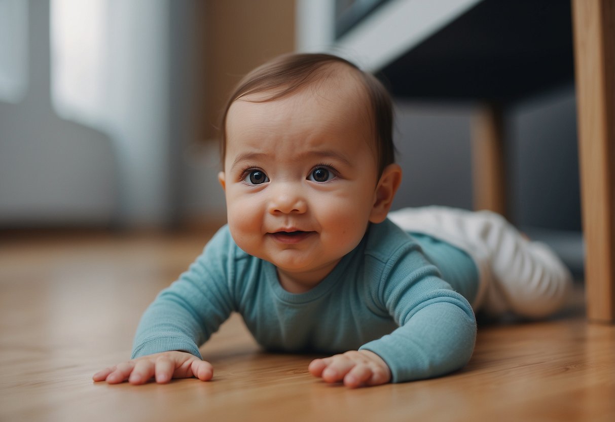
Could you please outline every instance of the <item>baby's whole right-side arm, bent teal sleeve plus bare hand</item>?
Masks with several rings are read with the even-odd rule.
[[[372,312],[389,314],[399,328],[363,344],[359,351],[314,360],[309,366],[313,375],[367,386],[440,376],[469,361],[476,322],[466,298],[454,292],[421,254],[408,253],[383,267],[381,281],[364,300]]]

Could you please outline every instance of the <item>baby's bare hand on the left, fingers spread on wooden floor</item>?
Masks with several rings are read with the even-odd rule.
[[[141,356],[94,374],[94,381],[107,381],[119,384],[126,380],[130,384],[145,384],[152,377],[159,384],[168,383],[171,378],[190,378],[196,376],[201,381],[213,377],[213,367],[209,362],[186,352],[162,352]]]

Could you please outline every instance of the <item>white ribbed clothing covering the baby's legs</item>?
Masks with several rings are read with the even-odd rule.
[[[405,231],[428,234],[472,257],[480,279],[475,311],[540,318],[568,300],[568,268],[547,245],[525,239],[499,214],[432,206],[394,211],[389,218]]]

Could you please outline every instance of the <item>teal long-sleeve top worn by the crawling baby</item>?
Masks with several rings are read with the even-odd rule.
[[[476,322],[468,300],[477,290],[467,255],[385,220],[370,225],[320,284],[289,293],[275,266],[239,249],[224,226],[143,314],[132,357],[170,350],[201,357],[199,346],[236,311],[265,349],[365,349],[389,365],[393,382],[429,378],[470,359]]]

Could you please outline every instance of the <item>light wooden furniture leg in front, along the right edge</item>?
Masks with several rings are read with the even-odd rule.
[[[615,0],[573,0],[587,317],[615,321]]]

